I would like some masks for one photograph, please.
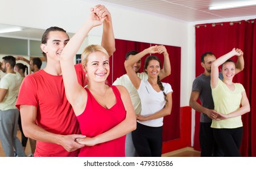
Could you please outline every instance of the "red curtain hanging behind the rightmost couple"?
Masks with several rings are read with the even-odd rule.
[[[256,68],[256,26],[255,19],[249,21],[223,22],[214,24],[195,25],[195,67],[196,76],[204,72],[200,64],[200,57],[203,53],[211,51],[216,57],[228,53],[232,48],[240,48],[244,53],[244,70],[234,77],[234,81],[243,84],[248,95],[251,112],[242,116],[243,120],[243,141],[240,147],[242,156],[256,156],[256,120],[254,115],[256,89],[255,74]],[[237,60],[237,57],[231,59]],[[195,117],[195,138],[194,148],[200,150],[198,141],[200,113]]]

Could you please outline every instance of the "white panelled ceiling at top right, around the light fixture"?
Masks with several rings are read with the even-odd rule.
[[[213,4],[224,2],[243,2],[243,0],[101,0],[107,4],[141,12],[158,14],[186,22],[207,21],[212,19],[253,16],[256,5],[251,7],[231,8],[226,10],[209,10]]]

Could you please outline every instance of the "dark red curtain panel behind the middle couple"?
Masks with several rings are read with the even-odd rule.
[[[129,40],[115,39],[116,51],[112,57],[112,75],[109,76],[108,81],[116,80],[123,74],[126,74],[124,69],[124,61],[126,59],[126,53],[130,50],[143,51],[150,46],[157,45],[152,43],[133,42]],[[180,138],[180,65],[181,65],[181,48],[177,46],[166,46],[169,53],[170,64],[172,66],[172,74],[169,77],[164,78],[162,81],[170,83],[172,85],[172,114],[164,117],[163,126],[163,141],[169,141],[172,139]],[[163,64],[163,55],[158,55]],[[141,59],[141,72],[143,72],[144,61],[146,57]],[[110,65],[111,66],[111,65]]]

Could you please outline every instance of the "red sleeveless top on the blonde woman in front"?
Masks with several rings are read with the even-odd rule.
[[[88,94],[86,109],[77,116],[82,135],[95,137],[107,130],[112,129],[126,118],[126,110],[121,100],[121,95],[116,86],[111,86],[116,104],[110,109],[101,106],[89,89],[85,88]],[[94,146],[85,146],[80,149],[80,157],[122,157],[125,156],[124,144],[126,135],[111,141],[103,142]]]

